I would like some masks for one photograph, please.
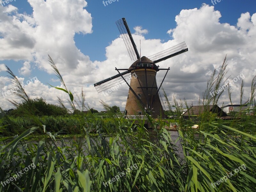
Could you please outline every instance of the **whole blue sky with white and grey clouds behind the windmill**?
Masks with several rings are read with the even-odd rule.
[[[103,100],[124,110],[127,85],[111,93],[98,93],[93,86],[116,75],[116,67],[129,68],[133,63],[116,26],[123,17],[135,44],[141,46],[141,56],[183,41],[187,44],[188,52],[157,63],[171,68],[163,83],[171,104],[175,97],[196,105],[214,68],[220,68],[226,55],[227,81],[233,82],[232,101],[240,103],[242,79],[244,101],[250,97],[256,75],[256,1],[0,1],[0,107],[4,110],[14,108],[10,100],[21,102],[5,65],[30,98],[42,97],[51,104],[58,104],[60,98],[69,108],[68,94],[49,85],[63,87],[48,54],[74,94],[77,108],[81,107],[83,90],[89,108],[104,110]],[[164,71],[157,73],[158,85],[164,75]],[[227,90],[218,104],[230,104]]]

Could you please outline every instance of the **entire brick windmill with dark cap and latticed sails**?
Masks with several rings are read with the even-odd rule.
[[[161,69],[159,66],[156,66],[156,63],[187,52],[188,47],[183,42],[149,57],[140,57],[125,18],[116,21],[116,25],[131,60],[135,60],[135,62],[128,69],[116,68],[117,75],[95,83],[94,87],[99,93],[118,84],[126,83],[129,86],[129,92],[125,106],[125,115],[145,115],[145,113],[148,113],[153,118],[164,117],[165,107],[159,90],[170,68]],[[124,72],[120,72],[122,70]],[[159,70],[166,70],[166,73],[162,83],[157,87],[156,72]],[[129,80],[131,80],[130,84],[127,83]]]

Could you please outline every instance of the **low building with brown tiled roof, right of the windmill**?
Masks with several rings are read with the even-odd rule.
[[[217,117],[219,118],[224,118],[225,119],[230,119],[231,117],[228,116],[218,105],[208,105],[208,106],[204,106],[204,105],[198,105],[198,106],[192,106],[191,108],[189,108],[183,115],[182,117],[184,119],[198,119],[198,117],[200,117],[200,115],[204,112],[212,112],[212,113],[216,113]],[[199,119],[198,119],[199,120]]]

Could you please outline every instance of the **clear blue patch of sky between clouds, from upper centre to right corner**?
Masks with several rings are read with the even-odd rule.
[[[170,26],[175,28],[175,16],[180,13],[180,10],[199,9],[203,3],[212,5],[210,1],[199,0],[186,0],[182,3],[181,1],[119,0],[104,6],[102,1],[89,0],[86,10],[92,13],[94,32],[87,36],[77,34],[76,45],[83,53],[88,54],[91,60],[105,60],[105,47],[119,36],[115,21],[123,17],[126,18],[132,32],[134,32],[132,26],[141,25],[149,31],[145,35],[146,38],[159,38],[166,42],[170,39],[166,31],[170,29]],[[255,12],[256,1],[222,0],[214,7],[215,10],[221,12],[220,22],[235,25],[241,13]],[[144,11],[139,11],[140,9]],[[84,43],[89,43],[91,46],[83,46]]]

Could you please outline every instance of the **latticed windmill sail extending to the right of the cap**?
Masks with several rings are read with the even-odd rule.
[[[171,57],[174,57],[176,55],[179,55],[187,51],[188,51],[187,45],[185,44],[185,42],[182,42],[162,52],[151,55],[148,57],[148,59],[154,61],[154,63],[158,63],[160,61],[169,59]]]

